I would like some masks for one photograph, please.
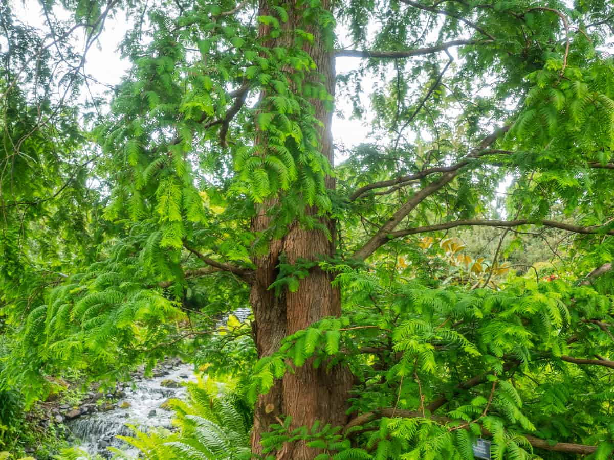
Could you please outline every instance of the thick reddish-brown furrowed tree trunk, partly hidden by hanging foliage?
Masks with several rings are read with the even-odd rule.
[[[286,27],[301,27],[301,13],[297,11],[295,0],[286,4],[289,20]],[[330,0],[324,0],[323,7],[330,8]],[[270,14],[268,2],[260,1],[260,15]],[[335,66],[332,50],[325,48],[324,40],[317,27],[303,26],[314,35],[313,44],[304,49],[311,55],[317,65],[317,72],[325,75],[327,90],[330,94],[335,91]],[[260,35],[266,34],[265,26],[261,26]],[[277,40],[271,40],[269,46],[284,46],[284,35]],[[322,121],[321,148],[330,164],[333,164],[333,145],[331,135],[332,113],[327,111],[322,101],[313,101],[316,117]],[[335,186],[332,178],[327,179],[327,186]],[[252,231],[265,231],[270,225],[270,218],[266,210],[275,203],[274,200],[261,205],[257,216],[252,220]],[[314,215],[317,209],[306,210]],[[255,316],[255,341],[258,356],[271,355],[278,350],[281,339],[286,335],[306,328],[309,324],[320,320],[324,316],[339,316],[341,314],[341,299],[338,289],[331,285],[331,275],[318,267],[309,271],[309,276],[301,280],[298,290],[294,293],[285,292],[275,296],[274,291],[268,290],[278,274],[279,255],[284,253],[288,262],[293,264],[297,259],[316,260],[322,256],[332,256],[335,251],[335,223],[328,218],[321,218],[333,236],[328,240],[322,231],[301,228],[298,223],[292,224],[286,236],[281,240],[273,240],[266,256],[255,258],[257,266],[254,283],[252,285],[250,301]],[[327,371],[325,364],[314,369],[311,361],[305,366],[295,370],[294,374],[286,374],[281,382],[277,382],[270,392],[261,395],[255,408],[254,429],[252,431],[252,450],[260,453],[260,435],[268,431],[271,423],[277,423],[276,418],[281,415],[292,417],[292,426],[311,426],[314,421],[344,425],[346,416],[348,391],[351,388],[351,374],[349,370],[337,366]],[[279,460],[312,459],[318,452],[307,448],[304,444],[294,443],[284,445],[277,453]]]

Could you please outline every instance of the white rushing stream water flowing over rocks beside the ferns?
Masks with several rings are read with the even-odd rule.
[[[74,437],[80,440],[76,445],[90,455],[99,454],[105,458],[111,457],[107,447],[117,447],[136,457],[137,451],[125,442],[117,439],[117,435],[133,435],[126,426],[138,426],[141,431],[150,427],[171,427],[173,412],[160,407],[169,398],[185,397],[185,387],[168,388],[162,386],[165,380],[176,383],[196,381],[191,364],[161,364],[154,371],[155,377],[135,377],[132,386],[126,386],[125,396],[119,399],[117,407],[106,412],[96,412],[80,416],[70,421],[68,427]]]

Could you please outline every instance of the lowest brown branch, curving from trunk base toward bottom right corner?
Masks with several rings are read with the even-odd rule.
[[[367,412],[367,413],[357,416],[356,418],[354,418],[354,420],[350,421],[344,427],[343,432],[347,433],[349,429],[351,429],[352,427],[362,426],[363,424],[368,423],[369,421],[374,420],[375,418],[381,418],[381,417],[423,418],[421,413],[414,412],[413,410],[405,410],[405,409],[394,410],[394,408],[392,407],[383,408],[383,409],[378,409],[373,412]],[[465,423],[465,422],[461,422],[458,420],[452,420],[451,418],[435,416],[435,415],[431,415],[429,419],[436,421],[437,423],[440,423],[442,425],[446,425],[448,423]],[[464,427],[464,429],[469,429],[469,427],[468,426]],[[489,432],[485,428],[482,428],[481,431],[484,436],[492,435],[491,432]],[[557,443],[554,443],[553,445],[550,445],[550,442],[548,442],[548,440],[540,439],[538,437],[531,436],[528,434],[523,434],[523,436],[527,439],[530,445],[538,449],[550,450],[554,452],[575,453],[575,454],[581,454],[581,455],[589,455],[597,451],[596,446],[590,446],[586,444],[574,444],[574,443],[568,443],[568,442],[557,442]]]

